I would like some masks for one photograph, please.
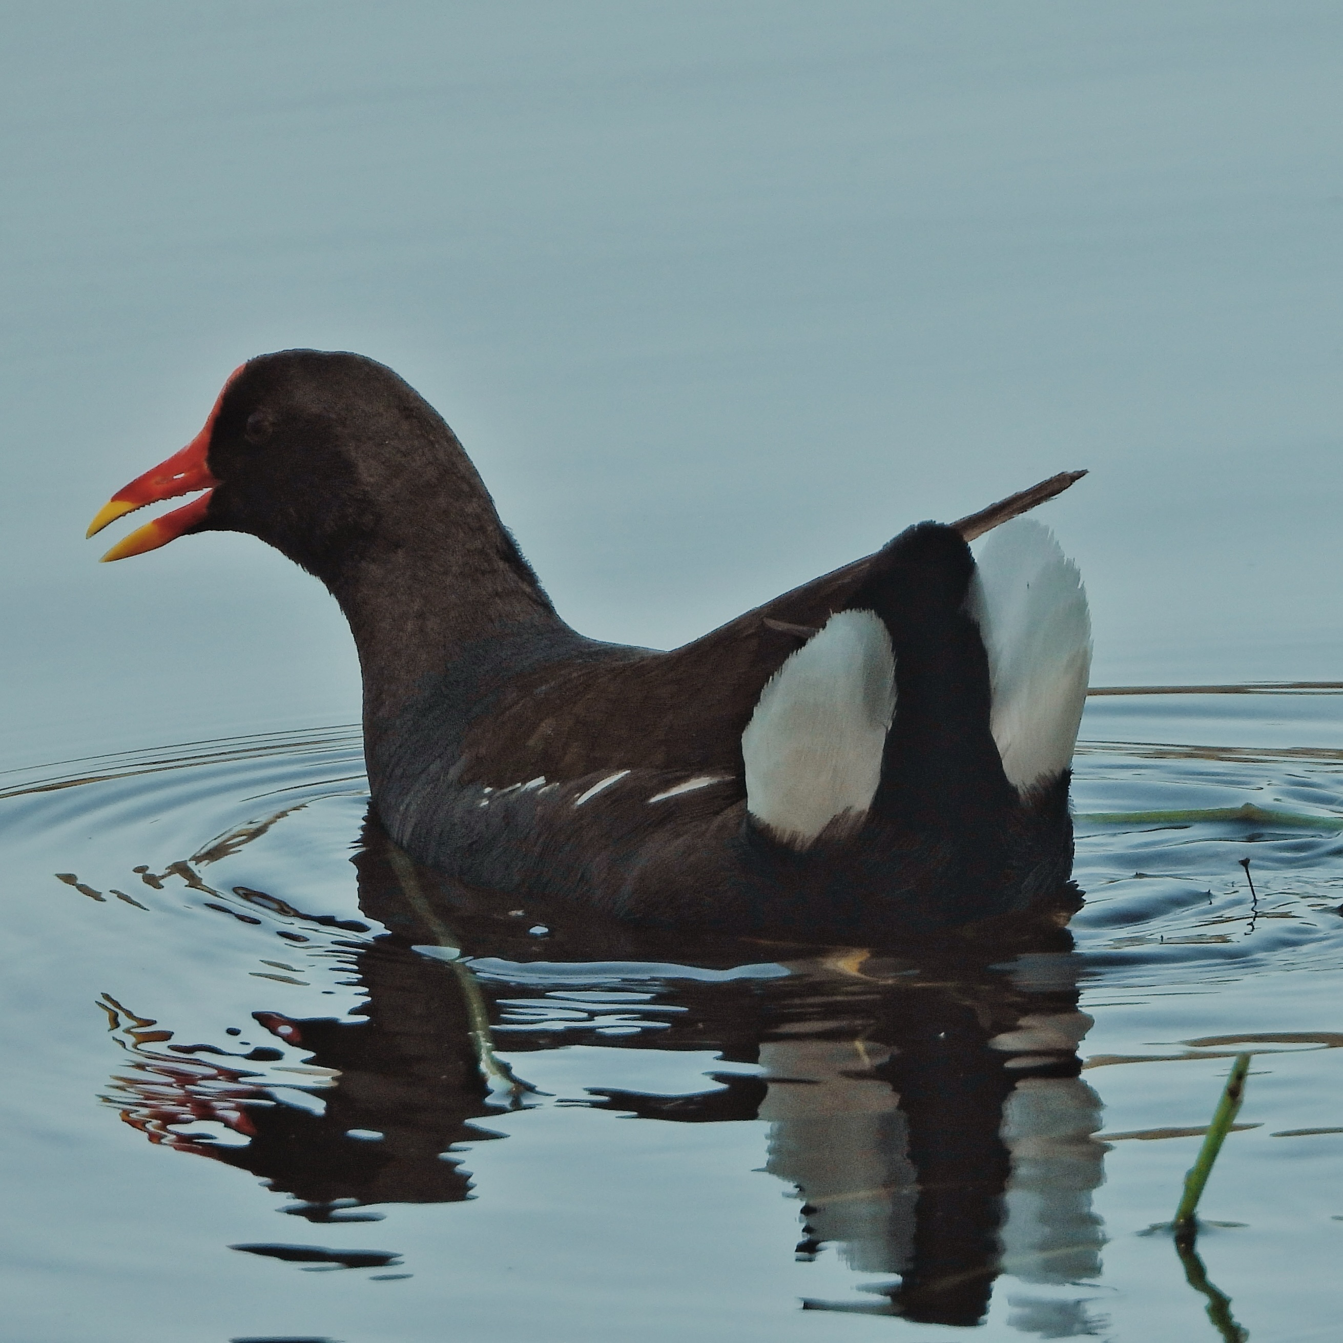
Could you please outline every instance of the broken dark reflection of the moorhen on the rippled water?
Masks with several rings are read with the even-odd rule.
[[[426,869],[408,886],[404,858],[375,823],[355,864],[364,915],[388,929],[337,943],[367,1003],[349,1018],[254,1013],[258,1039],[266,1030],[308,1056],[290,1070],[293,1085],[320,1086],[318,1099],[309,1089],[297,1093],[308,1097],[302,1105],[275,1104],[274,1074],[263,1086],[247,1068],[275,1057],[265,1045],[248,1041],[251,1053],[232,1057],[171,1045],[169,1030],[109,998],[132,1066],[106,1100],[128,1123],[261,1176],[293,1195],[286,1211],[312,1222],[373,1221],[380,1203],[473,1197],[453,1148],[501,1136],[490,1131],[501,1108],[544,1103],[522,1084],[490,1085],[482,1006],[522,1076],[529,1052],[582,1041],[584,1029],[604,1046],[713,1049],[725,1066],[700,1093],[590,1088],[583,1104],[667,1123],[764,1120],[766,1171],[800,1202],[796,1256],[829,1248],[878,1276],[864,1287],[870,1300],[807,1300],[807,1308],[974,1326],[995,1277],[1010,1273],[1027,1291],[1042,1288],[1011,1297],[1018,1330],[1095,1332],[1085,1303],[1057,1291],[1100,1273],[1091,1194],[1105,1151],[1093,1138],[1100,1101],[1078,1076],[1091,1018],[1077,1010],[1062,917],[917,952],[818,954],[694,941],[541,907],[520,916],[509,908],[516,897],[465,890]],[[1061,893],[1061,915],[1074,902]],[[539,920],[544,943],[529,932]],[[445,940],[457,943],[445,955],[459,950],[467,963],[488,962],[489,974],[454,974],[411,950]],[[624,1035],[611,1035],[600,1017],[559,1029],[543,1010],[505,1013],[497,1002],[505,997],[539,1009],[553,1002],[557,984],[537,966],[541,955],[568,971],[600,967],[606,983],[619,967],[681,1010],[659,1014],[655,1033]],[[678,978],[667,968],[743,963],[774,971]],[[512,982],[509,967],[520,971]],[[565,982],[572,987],[572,975]],[[743,1065],[753,1070],[735,1070]],[[224,1124],[231,1142],[205,1140],[200,1120]]]

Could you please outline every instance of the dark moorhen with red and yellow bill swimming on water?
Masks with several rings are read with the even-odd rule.
[[[283,351],[235,369],[89,535],[203,490],[103,559],[247,532],[326,586],[359,650],[372,804],[411,858],[649,925],[853,944],[1069,878],[1091,626],[1074,565],[1015,514],[1081,474],[911,526],[673,651],[626,647],[557,615],[407,383]]]

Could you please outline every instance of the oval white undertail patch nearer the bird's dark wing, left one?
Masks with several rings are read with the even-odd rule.
[[[751,815],[795,849],[835,818],[861,821],[894,712],[885,624],[873,611],[830,616],[770,678],[741,733]]]

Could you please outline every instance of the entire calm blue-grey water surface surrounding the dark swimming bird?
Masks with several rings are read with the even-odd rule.
[[[1198,1138],[1123,1135],[1240,1048],[1206,1275],[1334,1338],[1338,696],[1093,700],[1073,951],[426,924],[318,586],[81,537],[348,348],[586,634],[1085,466],[1099,685],[1338,681],[1340,150],[1330,0],[7,7],[0,1339],[1215,1339],[1143,1234]]]

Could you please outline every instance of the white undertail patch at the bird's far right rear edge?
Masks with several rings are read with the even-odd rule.
[[[1091,676],[1086,591],[1033,518],[995,528],[975,559],[967,606],[988,654],[990,727],[1007,780],[1026,794],[1073,757]]]

